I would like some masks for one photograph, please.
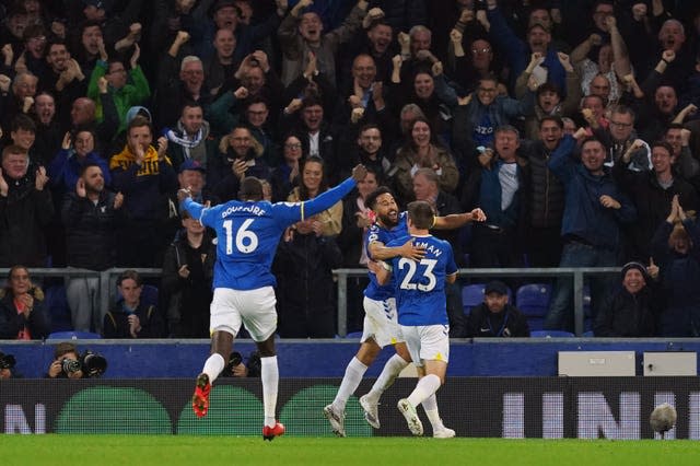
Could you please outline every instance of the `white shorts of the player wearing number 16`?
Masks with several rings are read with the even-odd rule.
[[[256,290],[215,288],[209,329],[211,333],[228,331],[235,337],[243,323],[254,341],[265,341],[277,330],[276,303],[272,287]]]

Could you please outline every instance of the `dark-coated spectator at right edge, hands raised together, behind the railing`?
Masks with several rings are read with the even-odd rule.
[[[652,238],[654,260],[658,264],[666,293],[666,308],[658,319],[660,337],[700,336],[700,229],[678,196],[670,213]]]

